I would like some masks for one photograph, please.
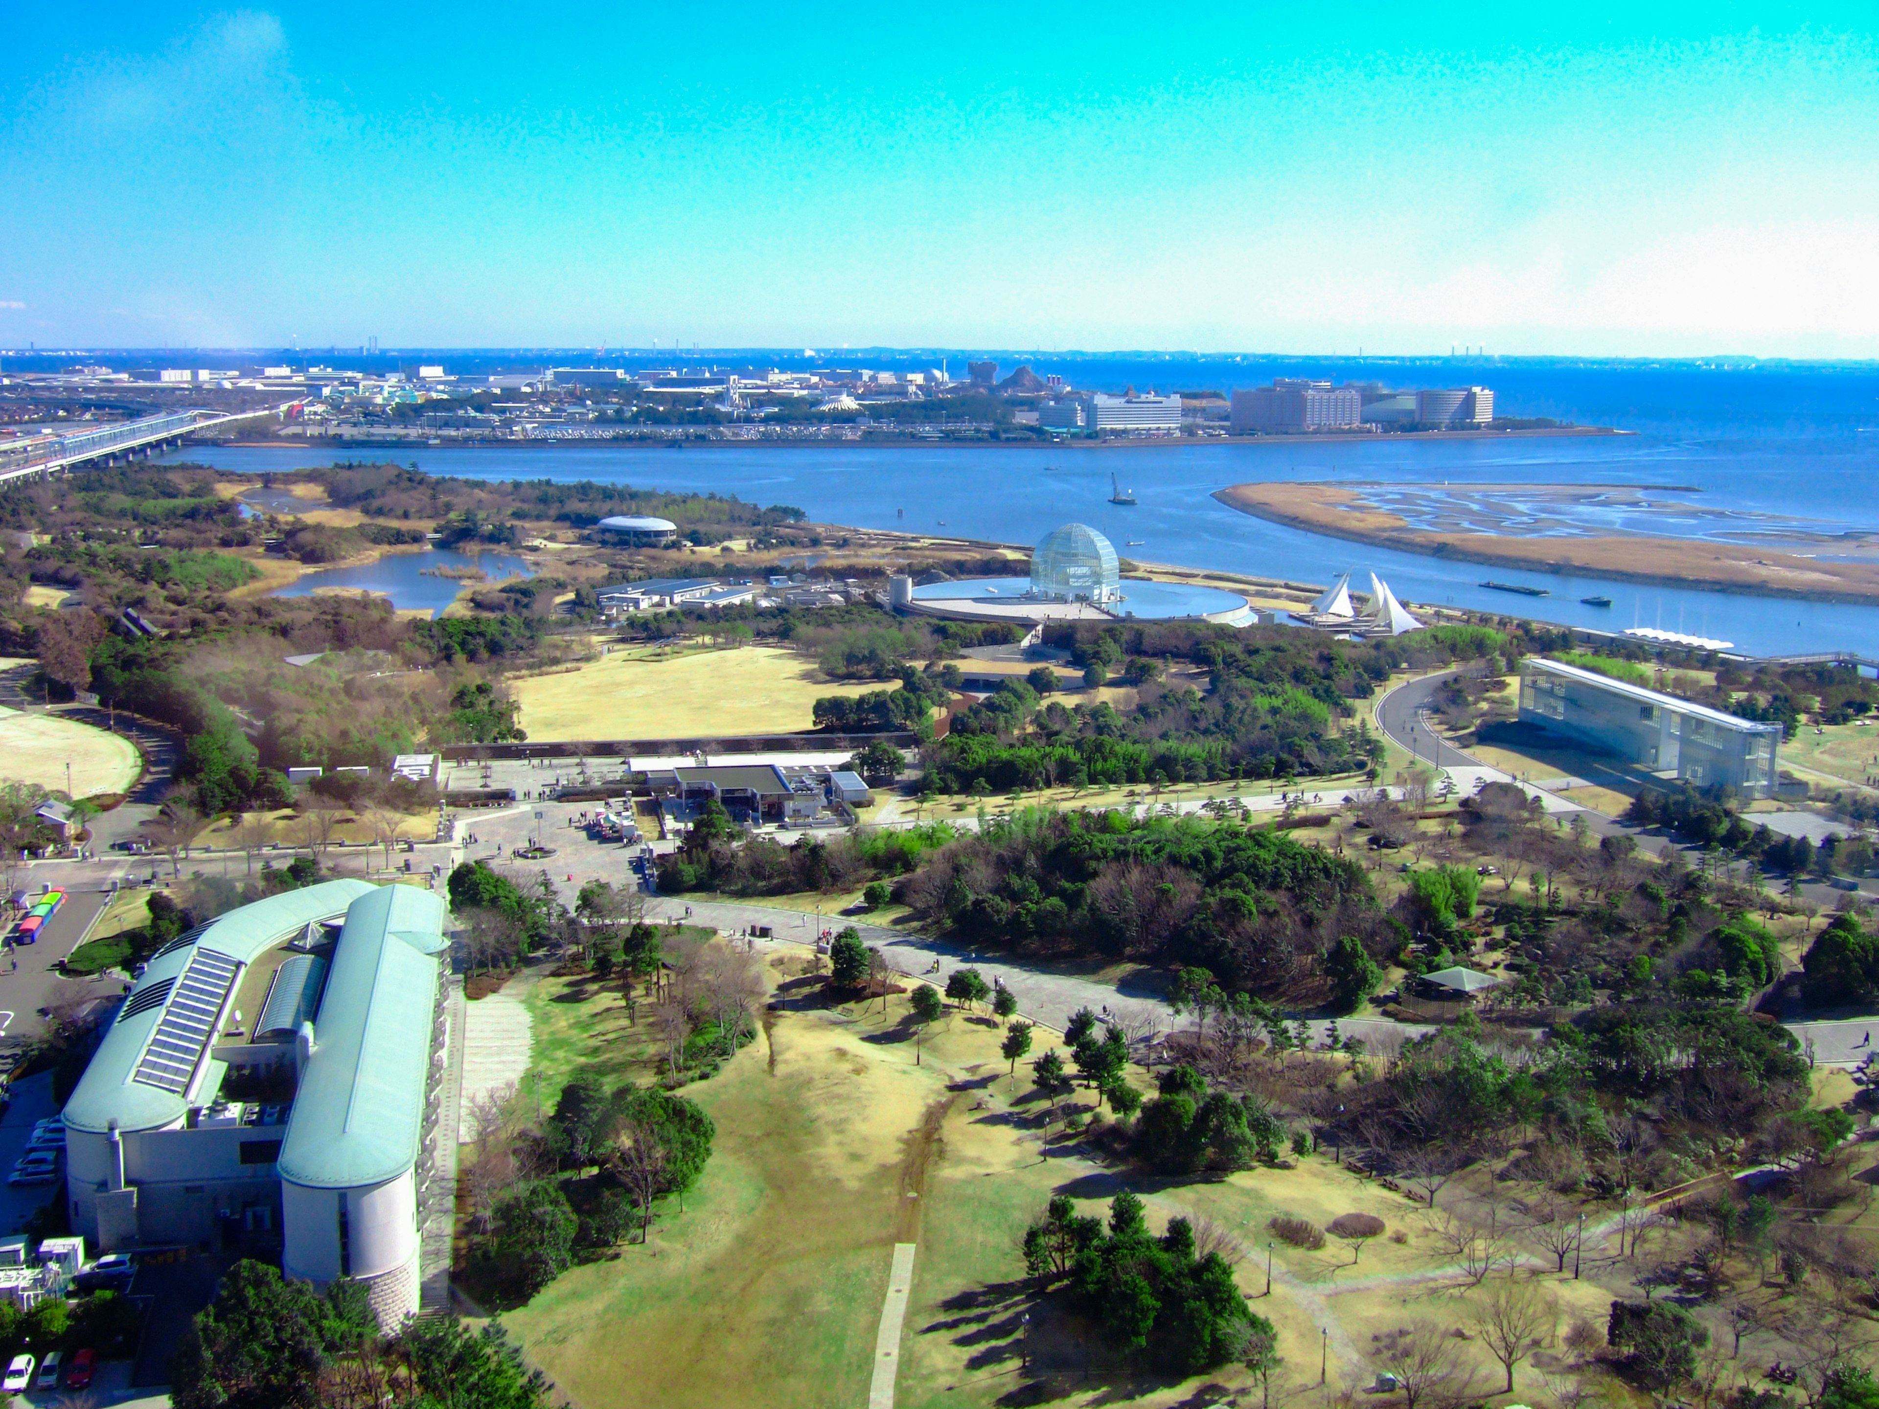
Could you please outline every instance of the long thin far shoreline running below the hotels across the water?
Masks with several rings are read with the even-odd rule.
[[[1002,449],[1002,451],[1114,451],[1114,449],[1188,449],[1195,445],[1351,445],[1351,443],[1394,443],[1400,440],[1546,440],[1576,436],[1635,436],[1635,430],[1618,426],[1535,426],[1520,430],[1392,430],[1366,434],[1359,430],[1336,430],[1328,434],[1297,436],[1118,436],[1116,440],[915,440],[911,436],[883,436],[879,440],[829,438],[812,440],[791,438],[714,438],[714,436],[622,436],[618,440],[451,440],[442,445],[417,443],[412,440],[214,440],[192,441],[212,449],[229,451],[306,451],[306,449],[361,449],[361,451],[515,451],[515,449]],[[321,443],[327,441],[327,443]],[[188,445],[184,447],[188,449]]]

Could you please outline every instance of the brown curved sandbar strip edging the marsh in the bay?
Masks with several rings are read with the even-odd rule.
[[[1411,528],[1402,515],[1366,502],[1360,487],[1347,485],[1233,485],[1214,498],[1257,519],[1313,534],[1499,567],[1584,571],[1623,582],[1717,586],[1779,597],[1879,601],[1875,562],[1828,562],[1763,545],[1633,534],[1505,537],[1430,532]],[[1638,562],[1654,564],[1654,571],[1638,571]]]

